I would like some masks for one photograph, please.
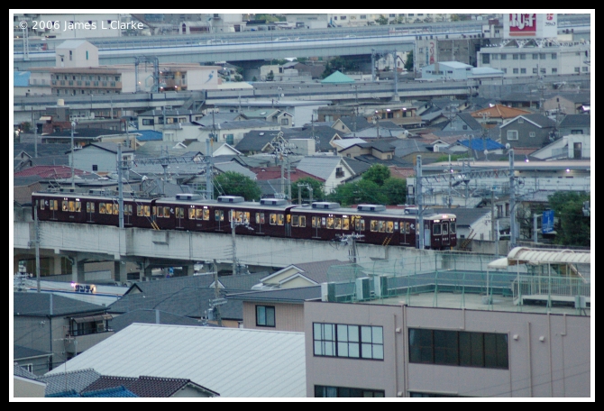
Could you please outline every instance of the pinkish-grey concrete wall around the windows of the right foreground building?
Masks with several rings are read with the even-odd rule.
[[[316,357],[314,322],[382,326],[384,360]],[[508,334],[508,370],[409,363],[409,327]],[[308,397],[315,385],[386,397],[590,397],[589,317],[307,302],[305,333]]]

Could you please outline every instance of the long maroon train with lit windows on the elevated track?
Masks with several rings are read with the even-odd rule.
[[[40,221],[76,224],[119,224],[114,196],[71,192],[32,193]],[[409,209],[406,210],[407,213]],[[384,205],[344,208],[338,203],[288,205],[283,199],[259,203],[241,196],[205,200],[195,194],[176,197],[124,197],[124,226],[155,230],[231,233],[231,216],[238,234],[334,241],[346,234],[361,234],[358,242],[416,247],[417,215],[388,210]],[[448,250],[457,244],[455,215],[425,211],[425,248]]]

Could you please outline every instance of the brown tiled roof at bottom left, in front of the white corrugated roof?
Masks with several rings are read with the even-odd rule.
[[[114,377],[102,376],[96,379],[82,391],[82,397],[89,397],[87,394],[91,391],[101,389],[124,387],[133,392],[137,397],[172,397],[178,393],[181,388],[187,387],[188,384],[193,384],[199,388],[203,388],[192,382],[190,379],[166,379],[160,377]],[[203,388],[207,389],[207,388]]]

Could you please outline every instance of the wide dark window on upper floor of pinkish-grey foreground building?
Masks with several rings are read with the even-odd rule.
[[[409,362],[508,369],[508,334],[409,329]]]

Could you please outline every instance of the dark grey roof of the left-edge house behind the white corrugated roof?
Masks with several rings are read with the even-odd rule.
[[[52,296],[52,314],[50,314]],[[97,306],[74,298],[61,297],[50,293],[14,293],[14,315],[59,316],[91,312],[104,312],[104,306]]]

